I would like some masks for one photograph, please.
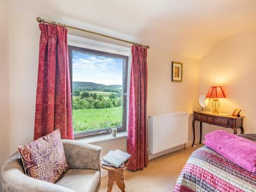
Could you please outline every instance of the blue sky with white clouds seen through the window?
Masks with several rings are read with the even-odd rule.
[[[122,84],[123,59],[72,52],[73,81]]]

